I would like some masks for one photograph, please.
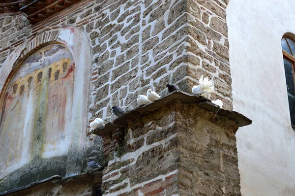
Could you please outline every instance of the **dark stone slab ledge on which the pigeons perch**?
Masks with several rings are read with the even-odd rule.
[[[196,103],[198,106],[208,111],[214,112],[217,115],[224,116],[229,120],[234,121],[238,127],[247,126],[252,123],[252,120],[248,119],[244,115],[235,111],[221,109],[207,98],[201,96],[198,97],[193,94],[188,94],[181,91],[176,91],[152,103],[140,106],[134,110],[130,110],[126,112],[123,116],[117,118],[115,121],[107,123],[104,127],[95,129],[91,133],[102,136],[103,134],[112,132],[115,129],[126,128],[130,121],[151,114],[155,110],[163,107],[168,102],[173,100],[178,100],[182,103]]]

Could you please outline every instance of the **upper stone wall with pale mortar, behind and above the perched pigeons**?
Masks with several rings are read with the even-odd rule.
[[[35,49],[32,40],[50,40],[62,26],[71,26],[83,32],[90,44],[89,122],[96,117],[114,120],[114,105],[125,111],[137,107],[137,96],[148,88],[166,95],[166,84],[175,83],[190,92],[201,75],[214,79],[216,93],[211,98],[222,99],[224,107],[232,109],[226,4],[222,0],[84,0],[34,26],[22,13],[3,16],[0,66],[20,45],[29,43],[27,49]],[[85,162],[104,161],[101,143],[101,138],[88,136]]]

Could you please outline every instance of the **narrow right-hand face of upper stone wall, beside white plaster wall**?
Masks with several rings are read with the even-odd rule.
[[[214,80],[216,92],[225,108],[232,110],[232,79],[229,65],[229,41],[226,24],[226,6],[229,0],[187,0],[186,20],[188,66],[186,74],[194,81],[201,75]],[[181,10],[175,8],[177,10]],[[191,82],[187,82],[191,89]]]

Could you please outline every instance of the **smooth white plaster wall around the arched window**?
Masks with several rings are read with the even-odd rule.
[[[230,0],[227,22],[234,110],[253,120],[236,133],[241,193],[295,196],[295,130],[281,49],[284,33],[295,33],[295,0]]]

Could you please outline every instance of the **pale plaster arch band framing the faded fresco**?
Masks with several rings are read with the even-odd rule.
[[[30,55],[51,44],[62,44],[67,47],[75,62],[71,124],[66,125],[70,130],[66,173],[67,175],[75,175],[81,173],[84,139],[88,125],[91,52],[88,38],[83,32],[71,26],[62,26],[59,29],[39,33],[19,45],[0,67],[0,109],[2,110],[4,94],[14,73]]]

